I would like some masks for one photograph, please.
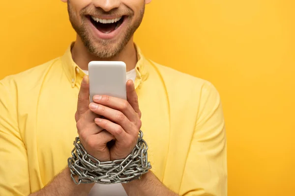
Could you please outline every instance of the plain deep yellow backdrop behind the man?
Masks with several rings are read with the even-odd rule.
[[[146,56],[219,90],[229,196],[295,195],[294,10],[294,0],[153,0],[136,34]],[[0,78],[75,39],[59,0],[2,0],[0,27]]]

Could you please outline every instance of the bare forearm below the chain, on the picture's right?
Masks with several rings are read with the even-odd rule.
[[[122,185],[128,196],[178,196],[165,187],[152,172],[144,174],[140,180]]]

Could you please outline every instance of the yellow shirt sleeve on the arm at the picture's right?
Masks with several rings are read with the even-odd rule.
[[[205,83],[198,117],[186,159],[181,196],[227,196],[227,147],[221,101]]]

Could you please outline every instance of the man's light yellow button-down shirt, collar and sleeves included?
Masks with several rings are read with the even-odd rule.
[[[181,196],[226,196],[226,133],[209,82],[145,58],[135,87],[152,171]],[[67,165],[85,73],[70,47],[59,58],[0,80],[0,196],[40,190]]]

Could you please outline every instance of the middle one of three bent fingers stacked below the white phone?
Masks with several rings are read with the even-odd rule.
[[[131,131],[130,129],[132,123],[127,119],[127,117],[122,112],[97,103],[90,103],[89,108],[93,113],[103,116],[106,119],[117,123],[126,132]]]

